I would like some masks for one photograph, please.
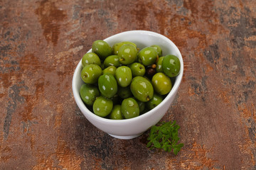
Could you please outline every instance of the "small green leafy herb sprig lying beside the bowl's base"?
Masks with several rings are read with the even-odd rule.
[[[158,125],[151,127],[149,132],[149,137],[147,140],[146,147],[164,149],[166,152],[174,151],[174,154],[178,154],[183,147],[183,143],[178,144],[178,129],[179,125],[176,125],[176,121],[171,122],[161,122]]]

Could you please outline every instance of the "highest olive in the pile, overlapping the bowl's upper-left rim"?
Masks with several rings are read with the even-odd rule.
[[[105,60],[107,56],[112,55],[112,47],[104,40],[95,40],[92,43],[92,52],[97,54],[101,60]]]

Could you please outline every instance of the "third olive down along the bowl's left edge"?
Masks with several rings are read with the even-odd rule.
[[[86,84],[95,84],[101,74],[102,69],[100,66],[97,64],[87,64],[82,69],[81,78]]]

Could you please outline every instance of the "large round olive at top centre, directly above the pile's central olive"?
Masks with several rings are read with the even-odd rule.
[[[118,52],[119,62],[128,65],[132,64],[137,59],[137,49],[134,45],[125,44],[119,48]]]

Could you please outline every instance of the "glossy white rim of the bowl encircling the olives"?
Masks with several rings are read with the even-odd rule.
[[[130,33],[139,33],[139,34],[144,34],[144,35],[154,35],[154,36],[158,36],[161,37],[162,39],[164,39],[166,42],[169,42],[172,47],[174,47],[174,49],[176,50],[176,52],[178,52],[178,55],[180,55],[180,57],[178,57],[178,59],[180,60],[181,63],[181,69],[180,72],[178,74],[178,76],[176,77],[175,83],[172,86],[171,91],[169,92],[169,94],[167,94],[167,96],[164,98],[164,100],[155,108],[151,109],[150,111],[139,115],[135,118],[129,118],[129,119],[122,119],[122,120],[112,120],[112,119],[107,119],[107,118],[102,118],[98,115],[95,115],[95,113],[92,113],[86,106],[85,103],[82,102],[82,99],[80,98],[80,94],[78,93],[77,89],[75,89],[75,77],[78,76],[80,69],[82,67],[82,59],[80,60],[80,62],[77,64],[77,66],[75,67],[75,72],[73,74],[73,80],[72,80],[72,89],[73,89],[73,96],[75,98],[75,102],[78,105],[78,107],[80,108],[80,110],[82,110],[82,114],[85,115],[85,113],[87,113],[87,115],[90,115],[90,117],[92,117],[94,120],[100,121],[100,122],[104,122],[104,123],[110,123],[110,124],[119,124],[119,123],[130,123],[130,122],[134,122],[136,120],[144,120],[144,118],[146,117],[150,117],[152,114],[155,113],[155,111],[160,108],[161,106],[164,105],[164,103],[166,103],[168,101],[168,98],[171,98],[171,96],[174,96],[175,93],[178,91],[178,88],[181,84],[181,80],[183,77],[183,57],[181,55],[180,50],[178,50],[178,47],[176,47],[176,45],[174,44],[174,42],[172,42],[169,38],[167,38],[164,35],[161,35],[159,33],[155,33],[153,31],[150,30],[127,30],[124,31],[122,33],[117,33],[114,35],[111,35],[108,38],[105,38],[104,40],[107,42],[108,40],[111,40],[114,37],[117,37],[119,35],[129,35]],[[87,52],[91,52],[92,49],[88,50]],[[85,113],[84,113],[85,112]],[[87,116],[85,115],[85,117],[87,118]]]

